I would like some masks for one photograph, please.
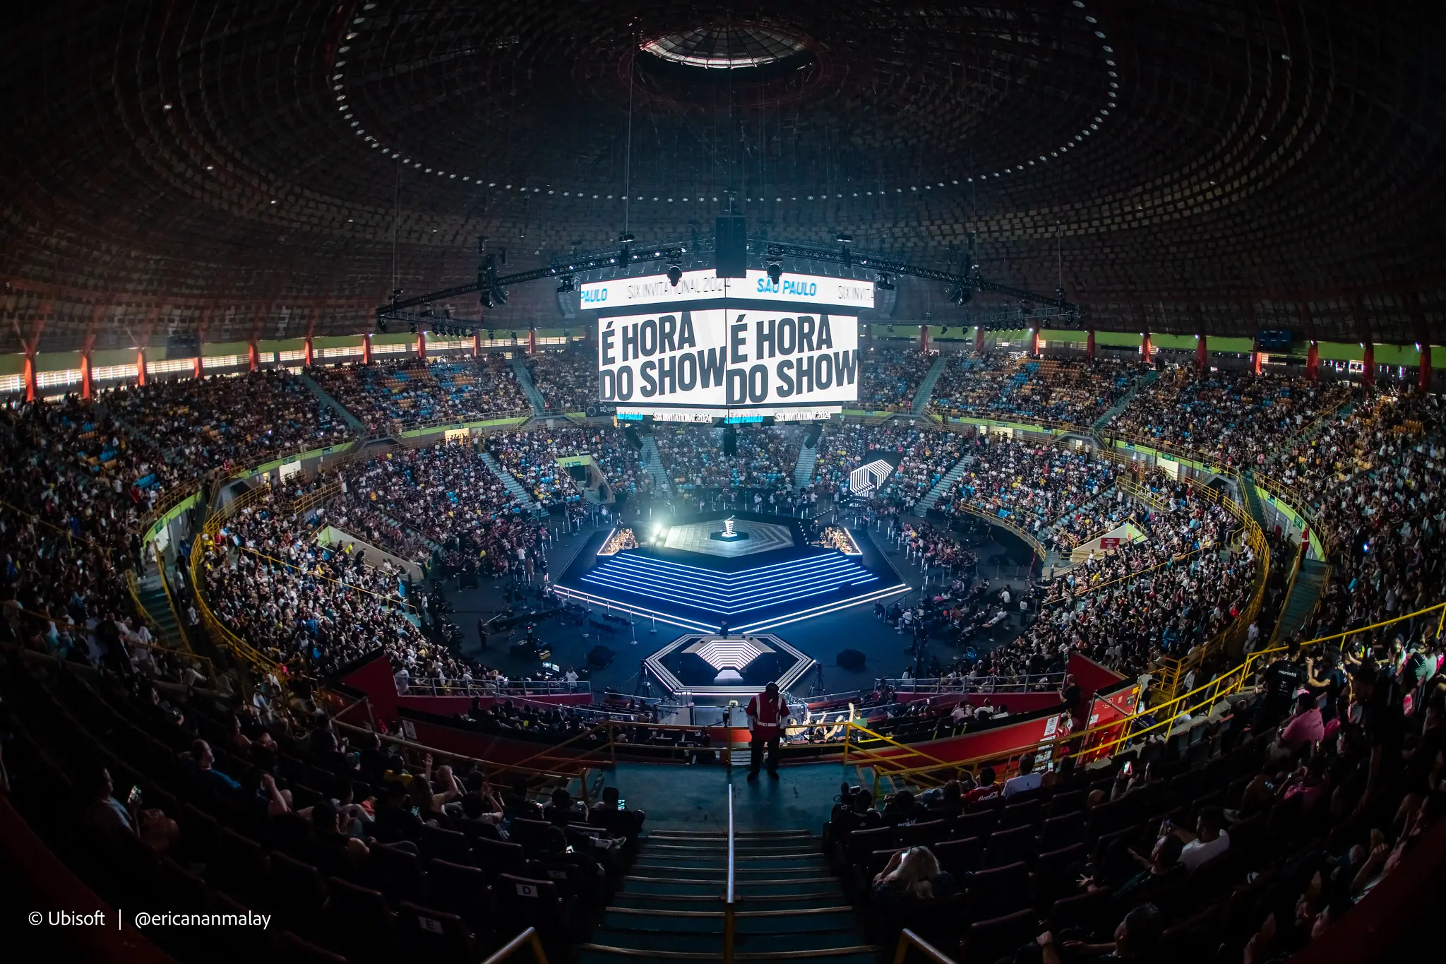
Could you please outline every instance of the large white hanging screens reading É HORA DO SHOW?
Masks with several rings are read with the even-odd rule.
[[[599,397],[628,410],[818,408],[859,397],[859,318],[784,308],[603,318]]]

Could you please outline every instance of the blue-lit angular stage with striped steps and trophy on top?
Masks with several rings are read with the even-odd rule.
[[[737,533],[720,538],[724,522]],[[632,548],[599,551],[630,528]],[[594,533],[554,585],[593,608],[711,633],[763,632],[850,606],[888,600],[908,584],[866,530],[849,551],[810,543],[810,523],[759,513],[696,513]]]

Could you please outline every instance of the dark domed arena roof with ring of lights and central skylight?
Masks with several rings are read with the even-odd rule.
[[[973,231],[1102,330],[1442,322],[1433,3],[55,0],[7,36],[7,351],[356,334],[479,234],[525,270],[730,202],[940,269]],[[963,321],[901,279],[925,312]]]

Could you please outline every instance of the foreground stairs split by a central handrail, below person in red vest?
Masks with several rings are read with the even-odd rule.
[[[873,964],[853,908],[807,830],[736,835],[735,960]],[[578,964],[635,960],[723,960],[727,835],[659,830],[648,834]]]

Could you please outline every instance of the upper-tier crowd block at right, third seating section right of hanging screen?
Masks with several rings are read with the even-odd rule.
[[[1106,431],[1233,467],[1261,465],[1351,393],[1343,383],[1176,367],[1142,387]]]

